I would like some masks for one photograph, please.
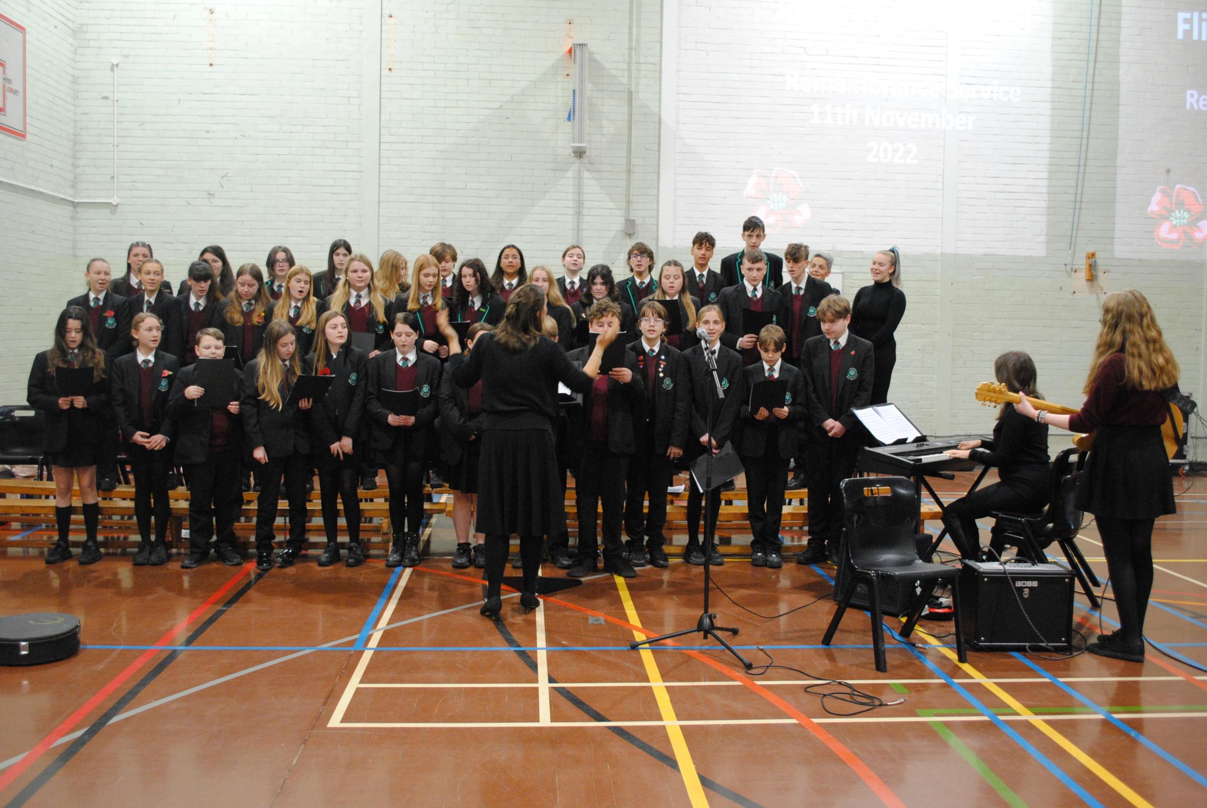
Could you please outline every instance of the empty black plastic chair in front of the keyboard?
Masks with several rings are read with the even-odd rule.
[[[871,646],[876,657],[876,671],[887,673],[885,660],[885,634],[880,611],[880,587],[882,582],[914,586],[920,592],[914,597],[909,617],[900,631],[908,638],[914,633],[922,608],[934,593],[940,581],[951,582],[951,604],[955,609],[956,652],[961,662],[968,660],[964,636],[960,622],[960,568],[927,563],[917,557],[914,528],[917,523],[917,491],[914,482],[899,476],[852,478],[842,480],[842,509],[846,522],[846,540],[842,543],[842,563],[850,564],[851,585],[846,587],[822,645],[829,645],[834,632],[842,622],[842,615],[855,595],[856,584],[867,581],[871,596]]]

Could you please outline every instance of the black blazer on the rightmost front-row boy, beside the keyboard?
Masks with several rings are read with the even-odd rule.
[[[841,349],[842,362],[838,367],[838,404],[832,404],[834,394],[829,383],[829,340],[824,335],[805,342],[800,369],[809,374],[809,420],[815,435],[824,437],[821,426],[830,418],[846,429],[847,435],[861,429],[852,409],[871,403],[871,381],[875,375],[871,342],[847,332],[846,345]],[[844,435],[845,438],[846,435]]]

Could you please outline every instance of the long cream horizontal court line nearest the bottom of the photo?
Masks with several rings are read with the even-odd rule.
[[[1207,712],[1202,713],[1112,713],[1113,718],[1129,719],[1207,719]],[[1003,721],[1034,721],[1034,715],[996,715]],[[815,718],[815,724],[923,724],[929,721],[978,722],[989,721],[985,715],[902,715],[886,718],[867,716],[834,716]],[[1097,713],[1068,713],[1057,715],[1044,715],[1044,721],[1104,721],[1106,718]],[[678,721],[553,721],[541,724],[540,721],[445,721],[445,722],[357,722],[342,724],[342,727],[358,730],[565,730],[565,728],[589,728],[589,727],[665,727],[665,726],[740,726],[752,724],[798,724],[795,719],[680,719]]]

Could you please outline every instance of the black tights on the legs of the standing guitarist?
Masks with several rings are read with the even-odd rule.
[[[1126,645],[1144,642],[1144,613],[1153,591],[1153,522],[1151,519],[1097,517],[1115,610],[1119,611],[1120,638]]]

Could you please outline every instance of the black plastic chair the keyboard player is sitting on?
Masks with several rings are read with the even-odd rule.
[[[1013,546],[1036,563],[1044,563],[1049,561],[1044,549],[1055,541],[1063,551],[1069,570],[1077,575],[1090,607],[1097,609],[1098,597],[1094,590],[1102,584],[1077,546],[1077,535],[1085,517],[1085,513],[1077,509],[1077,485],[1084,467],[1085,452],[1071,447],[1057,455],[1051,467],[1048,509],[1042,514],[995,513],[990,546],[998,557]]]

